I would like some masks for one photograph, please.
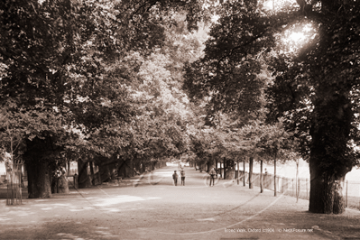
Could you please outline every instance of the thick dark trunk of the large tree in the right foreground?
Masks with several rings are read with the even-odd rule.
[[[346,93],[327,92],[327,96],[315,102],[310,128],[309,211],[341,214],[345,211],[342,183],[354,164],[347,154],[353,112]]]

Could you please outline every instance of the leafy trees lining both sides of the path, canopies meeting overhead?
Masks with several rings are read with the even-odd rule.
[[[66,159],[139,168],[184,152],[209,164],[301,154],[309,210],[341,213],[341,181],[359,159],[359,9],[2,1],[2,147],[22,157],[30,198],[51,195]],[[308,41],[291,42],[293,32]]]

